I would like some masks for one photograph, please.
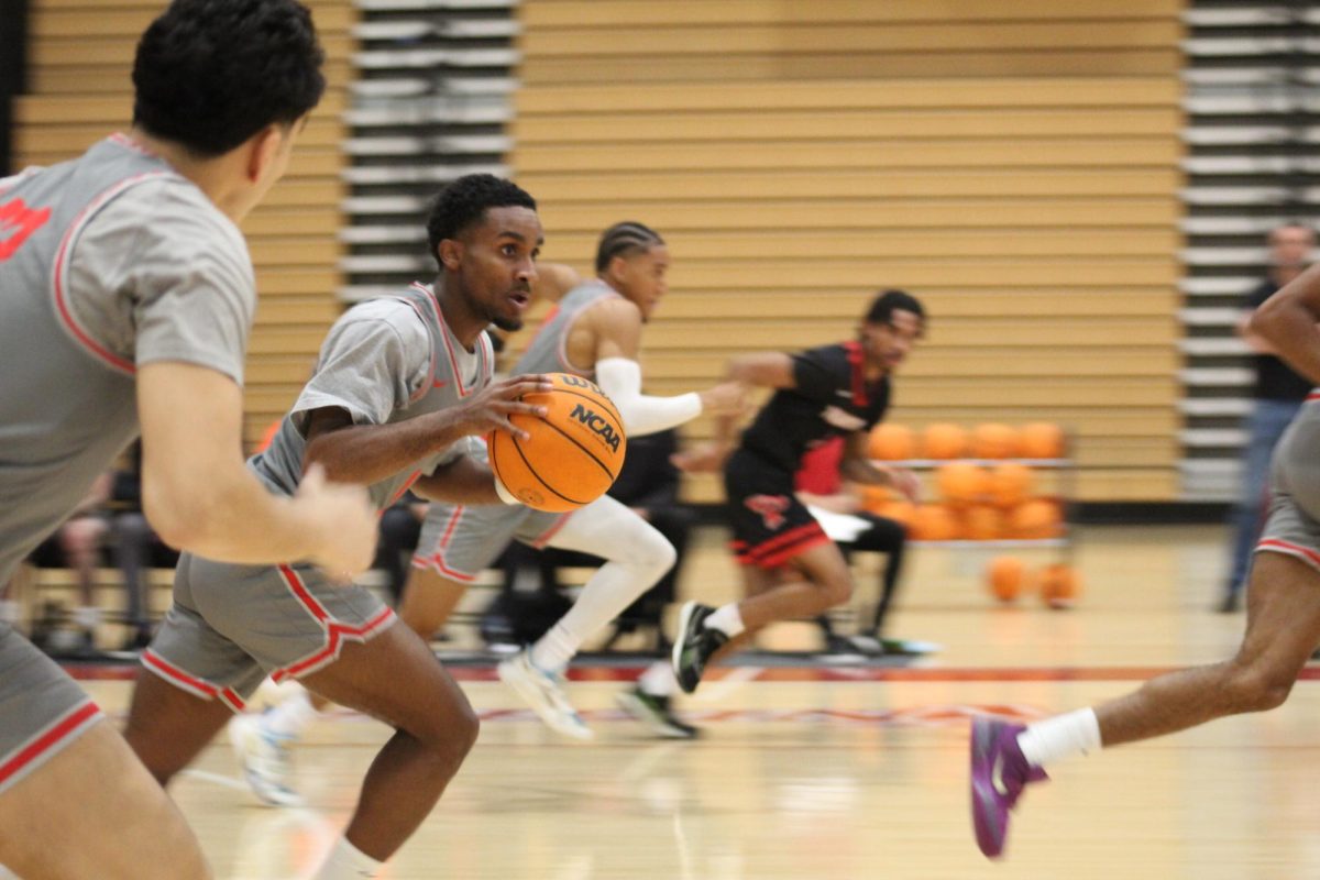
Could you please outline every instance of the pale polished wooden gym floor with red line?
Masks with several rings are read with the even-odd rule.
[[[993,607],[989,554],[912,553],[891,636],[941,643],[909,666],[738,666],[685,701],[692,743],[648,739],[612,708],[612,670],[570,695],[597,731],[566,743],[491,681],[458,674],[482,736],[449,794],[381,875],[393,880],[760,880],[982,877],[1225,880],[1320,876],[1320,687],[1282,710],[1055,768],[1015,815],[1006,862],[977,852],[968,818],[966,718],[1036,716],[1121,694],[1183,664],[1222,658],[1243,617],[1210,613],[1225,533],[1093,528],[1073,611],[1034,598]],[[733,595],[718,533],[697,542],[685,590]],[[1049,561],[1045,551],[1028,557]],[[863,599],[874,591],[859,562]],[[784,625],[777,646],[814,632]],[[110,710],[129,685],[90,681]],[[383,726],[337,711],[298,752],[310,806],[252,806],[224,743],[173,789],[219,877],[310,877],[352,809]]]

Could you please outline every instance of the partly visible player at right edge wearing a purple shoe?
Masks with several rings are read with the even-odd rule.
[[[1320,268],[1251,317],[1300,375],[1320,384]],[[1311,392],[1274,453],[1270,516],[1247,590],[1246,635],[1234,657],[1152,678],[1118,699],[1027,724],[972,724],[972,815],[981,851],[1002,855],[1008,811],[1057,760],[1163,736],[1225,715],[1282,706],[1320,644],[1320,392]]]

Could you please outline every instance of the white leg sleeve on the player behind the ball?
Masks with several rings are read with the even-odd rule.
[[[677,555],[655,526],[602,496],[569,517],[549,545],[603,557],[569,612],[532,646],[532,662],[560,669],[582,643],[619,616],[673,566]]]

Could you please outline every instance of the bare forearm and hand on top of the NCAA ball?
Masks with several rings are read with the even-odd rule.
[[[319,408],[308,418],[305,463],[321,464],[330,479],[343,483],[376,483],[442,453],[463,437],[492,430],[525,437],[525,431],[510,422],[510,416],[544,417],[544,406],[519,398],[550,388],[544,376],[515,376],[487,385],[455,406],[385,425],[358,425],[343,408]]]

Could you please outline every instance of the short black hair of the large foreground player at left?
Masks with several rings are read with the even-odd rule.
[[[296,0],[174,0],[137,42],[133,124],[202,157],[317,106],[326,80]]]

